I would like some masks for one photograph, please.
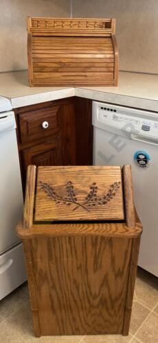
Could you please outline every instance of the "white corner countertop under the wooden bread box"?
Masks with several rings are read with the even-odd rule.
[[[8,97],[13,108],[76,95],[158,112],[158,75],[122,71],[119,86],[73,88],[30,87],[27,71],[0,73],[0,95]]]

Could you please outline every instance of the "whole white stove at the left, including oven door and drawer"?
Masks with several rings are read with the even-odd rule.
[[[23,193],[12,105],[0,97],[0,300],[25,282],[23,246],[16,235]]]

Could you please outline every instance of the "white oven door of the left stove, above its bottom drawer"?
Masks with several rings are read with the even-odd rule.
[[[23,193],[16,131],[0,134],[0,254],[19,241],[16,224],[21,220]]]

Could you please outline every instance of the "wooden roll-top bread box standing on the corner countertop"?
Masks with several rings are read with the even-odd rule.
[[[115,19],[27,19],[30,86],[115,86]]]

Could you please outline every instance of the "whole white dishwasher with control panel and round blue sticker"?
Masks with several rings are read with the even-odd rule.
[[[93,102],[93,165],[131,164],[143,224],[139,265],[158,276],[158,113]]]

